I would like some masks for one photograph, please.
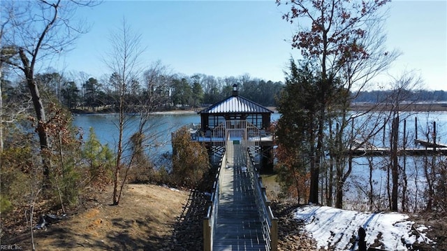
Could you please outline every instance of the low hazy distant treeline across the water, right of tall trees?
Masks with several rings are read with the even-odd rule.
[[[354,102],[370,102],[370,103],[380,103],[383,102],[384,97],[391,96],[393,90],[377,90],[370,92],[360,92],[355,99]],[[439,101],[447,101],[447,92],[446,91],[427,91],[427,90],[419,90],[417,92],[409,92],[407,95],[408,100],[406,101],[414,101],[414,102],[439,102]]]

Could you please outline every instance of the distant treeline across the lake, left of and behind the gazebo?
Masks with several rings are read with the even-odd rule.
[[[95,111],[116,112],[119,107],[119,87],[122,79],[117,73],[100,79],[89,78],[87,73],[63,75],[56,71],[38,73],[36,83],[41,94],[52,96],[55,103],[66,106],[75,113]],[[226,99],[232,94],[233,85],[239,88],[240,96],[261,106],[276,106],[276,96],[284,84],[280,81],[261,80],[242,75],[217,78],[205,74],[184,76],[166,73],[163,66],[156,65],[125,83],[126,107],[137,112],[142,104],[152,110],[198,108]],[[22,79],[1,80],[4,101],[27,100],[27,84]]]

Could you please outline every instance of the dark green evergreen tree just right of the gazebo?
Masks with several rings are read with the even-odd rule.
[[[314,167],[318,112],[314,95],[318,80],[312,64],[307,62],[298,67],[291,59],[286,85],[277,100],[281,113],[276,131],[279,177],[295,187],[298,199],[308,198],[308,178]]]

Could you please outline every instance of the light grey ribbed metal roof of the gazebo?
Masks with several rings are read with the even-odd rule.
[[[229,96],[223,101],[214,103],[214,105],[200,110],[198,114],[203,113],[274,113],[272,110],[265,108],[249,99],[245,99],[243,96]]]

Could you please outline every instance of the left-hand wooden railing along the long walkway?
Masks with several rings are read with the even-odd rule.
[[[219,197],[221,194],[221,175],[220,171],[226,166],[226,152],[223,153],[217,168],[216,176],[214,177],[214,183],[212,186],[212,193],[210,201],[207,202],[207,215],[203,218],[203,250],[211,251],[213,236],[214,236],[214,224],[217,222],[217,208],[219,208]]]

